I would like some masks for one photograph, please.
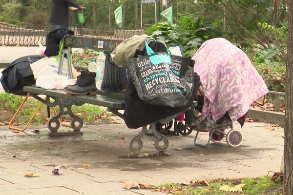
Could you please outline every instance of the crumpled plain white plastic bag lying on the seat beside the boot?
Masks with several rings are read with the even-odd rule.
[[[66,85],[70,85],[67,77],[61,75],[46,75],[37,78],[36,86],[42,89],[63,90]]]

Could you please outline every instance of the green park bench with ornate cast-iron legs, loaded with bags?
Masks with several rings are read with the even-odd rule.
[[[99,38],[86,38],[78,36],[66,36],[64,46],[68,49],[63,49],[63,54],[60,60],[59,74],[62,72],[63,58],[65,54],[67,56],[68,66],[70,67],[70,77],[72,78],[71,62],[70,62],[70,48],[87,48],[94,50],[104,50],[112,51],[114,48],[119,45],[122,41],[115,39],[99,39]],[[36,98],[42,103],[46,104],[49,107],[59,106],[59,112],[56,116],[52,116],[47,123],[47,128],[50,130],[48,136],[69,136],[69,135],[83,135],[81,128],[83,127],[83,119],[74,115],[72,112],[72,105],[82,106],[84,103],[94,104],[98,106],[103,106],[107,108],[107,111],[114,113],[116,116],[123,118],[123,114],[119,110],[125,109],[124,97],[121,92],[106,92],[102,90],[97,91],[96,96],[73,96],[66,94],[63,90],[45,90],[38,88],[36,86],[25,86],[23,91],[28,92],[28,95]],[[40,95],[45,95],[47,98],[42,98]],[[196,102],[193,103],[193,106],[196,106]],[[183,110],[182,112],[185,112]],[[141,138],[146,135],[146,133],[153,133],[156,137],[155,148],[159,152],[164,152],[168,147],[167,137],[158,133],[156,129],[157,122],[161,124],[166,124],[168,121],[172,120],[174,117],[180,113],[166,117],[160,121],[153,122],[149,125],[143,126],[141,132],[132,138],[129,142],[129,149],[132,152],[139,152],[142,149],[143,142]],[[58,132],[57,130],[60,127],[60,117],[63,115],[69,115],[71,117],[70,126],[73,129],[73,132]],[[164,144],[162,144],[164,142]],[[135,144],[136,143],[136,144]]]

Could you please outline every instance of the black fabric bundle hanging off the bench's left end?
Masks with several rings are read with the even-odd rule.
[[[0,78],[5,92],[20,96],[26,95],[27,93],[23,92],[22,88],[36,83],[30,64],[42,58],[44,58],[44,56],[31,55],[21,57],[11,62],[9,66],[2,71],[2,77]]]

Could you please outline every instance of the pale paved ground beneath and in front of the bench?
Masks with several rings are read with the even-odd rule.
[[[25,133],[0,126],[0,194],[160,195],[149,190],[127,191],[123,186],[125,182],[160,185],[195,177],[257,177],[280,168],[284,146],[280,127],[245,123],[240,129],[235,123],[244,137],[236,148],[226,142],[208,148],[194,146],[193,132],[187,137],[168,137],[170,156],[129,158],[128,141],[140,129],[127,129],[119,118],[115,122],[84,124],[83,137],[47,137],[45,125],[30,126]],[[35,129],[41,133],[34,134]],[[201,133],[198,139],[207,138],[208,133]],[[142,154],[156,152],[154,137],[143,137],[143,143]],[[63,166],[63,176],[51,174],[55,165]],[[24,177],[27,172],[40,177]]]

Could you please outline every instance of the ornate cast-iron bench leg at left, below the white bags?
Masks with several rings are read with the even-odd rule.
[[[55,136],[76,136],[76,135],[83,135],[83,132],[80,129],[83,127],[83,119],[74,115],[72,113],[72,105],[82,106],[84,103],[76,102],[73,100],[68,100],[64,98],[52,98],[54,99],[53,102],[50,101],[50,98],[40,98],[35,94],[30,94],[30,96],[34,97],[35,99],[41,101],[42,103],[46,104],[49,107],[55,107],[58,105],[60,107],[59,112],[56,116],[51,117],[47,123],[47,127],[50,130],[48,136],[55,137]],[[73,129],[73,132],[57,132],[60,127],[60,118],[63,115],[69,115],[71,117],[70,126]],[[78,125],[77,125],[78,124]]]

